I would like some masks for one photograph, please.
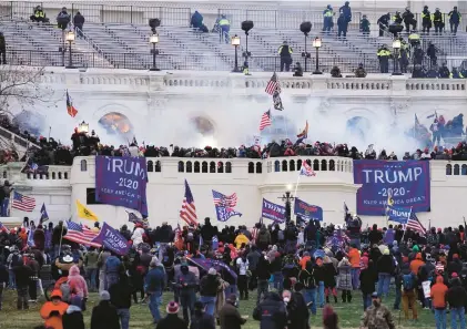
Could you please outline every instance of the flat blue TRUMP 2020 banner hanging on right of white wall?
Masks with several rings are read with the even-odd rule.
[[[430,210],[428,161],[354,161],[354,184],[362,184],[358,215],[386,215],[388,197],[394,206]]]

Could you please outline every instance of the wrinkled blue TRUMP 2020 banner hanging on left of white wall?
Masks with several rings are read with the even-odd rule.
[[[136,209],[146,217],[146,183],[144,157],[95,157],[97,202]]]

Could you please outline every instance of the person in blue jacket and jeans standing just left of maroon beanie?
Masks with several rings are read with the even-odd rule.
[[[161,320],[159,307],[162,305],[162,292],[165,288],[165,273],[160,266],[159,259],[151,260],[150,270],[145,277],[144,291],[149,296],[149,309],[151,310],[154,323]]]

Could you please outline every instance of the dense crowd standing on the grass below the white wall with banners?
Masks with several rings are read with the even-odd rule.
[[[55,284],[40,316],[45,328],[55,329],[84,328],[91,291],[101,300],[91,329],[128,329],[132,302],[148,302],[158,329],[214,329],[215,321],[221,329],[237,329],[246,321],[238,304],[251,290],[257,291],[252,313],[262,329],[307,329],[318,308],[324,328],[335,329],[337,315],[329,306],[341,302],[362,304],[362,328],[394,329],[389,309],[400,307],[405,320],[432,311],[440,329],[450,313],[453,328],[465,328],[463,225],[426,233],[402,225],[363,228],[349,214],[345,223],[323,227],[297,217],[282,228],[258,223],[221,229],[205,218],[204,225],[174,230],[166,223],[151,229],[141,222],[133,230],[121,227],[132,247],[119,256],[69,241],[62,222],[35,226],[26,218],[21,228],[0,232],[0,287],[16,289],[18,309],[27,310],[43,291],[42,267],[51,265]],[[98,233],[99,223],[90,229]],[[163,294],[172,299],[165,317],[159,310]],[[382,304],[389,294],[396,296],[392,307]]]

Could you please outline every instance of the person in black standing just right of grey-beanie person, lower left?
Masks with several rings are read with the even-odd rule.
[[[119,281],[109,288],[110,304],[116,308],[122,329],[129,329],[132,288],[126,274],[120,274]]]

